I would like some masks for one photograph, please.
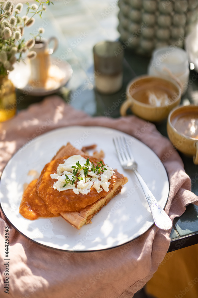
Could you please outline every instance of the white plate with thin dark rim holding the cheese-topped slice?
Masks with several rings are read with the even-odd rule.
[[[120,131],[103,127],[72,126],[56,129],[27,142],[7,163],[0,181],[0,203],[4,215],[22,235],[44,246],[76,252],[110,249],[127,243],[146,232],[154,223],[145,195],[132,171],[121,167],[113,145],[113,137],[124,135],[131,144],[148,187],[164,208],[169,181],[158,156],[145,144]],[[31,221],[19,213],[23,184],[33,177],[29,170],[41,172],[62,145],[70,142],[76,148],[97,144],[104,150],[104,162],[128,177],[120,194],[94,216],[92,224],[80,230],[61,217]]]

